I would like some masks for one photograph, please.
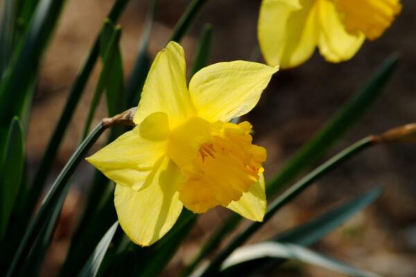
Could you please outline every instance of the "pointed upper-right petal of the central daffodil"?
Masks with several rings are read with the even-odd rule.
[[[257,62],[220,62],[207,66],[189,82],[198,116],[214,122],[248,113],[278,69]]]

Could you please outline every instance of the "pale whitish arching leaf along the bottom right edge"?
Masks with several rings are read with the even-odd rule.
[[[335,260],[321,253],[301,247],[300,245],[279,242],[262,242],[258,244],[248,245],[236,249],[227,260],[223,263],[222,271],[225,276],[241,276],[241,270],[236,271],[236,267],[250,262],[252,260],[261,260],[264,258],[288,259],[305,262],[310,265],[324,267],[326,269],[336,271],[347,276],[375,277],[378,276],[368,271],[363,271],[344,262]],[[248,276],[243,271],[244,276]]]

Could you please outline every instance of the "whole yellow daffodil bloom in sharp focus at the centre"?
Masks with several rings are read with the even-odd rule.
[[[252,145],[248,122],[229,123],[257,104],[276,67],[220,62],[193,75],[170,42],[150,68],[136,127],[87,158],[116,183],[114,204],[129,238],[153,244],[185,206],[204,213],[225,206],[249,220],[266,211],[266,150]]]

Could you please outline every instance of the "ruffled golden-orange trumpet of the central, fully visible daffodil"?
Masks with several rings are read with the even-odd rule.
[[[168,155],[180,167],[180,200],[189,210],[204,213],[239,200],[263,172],[266,150],[252,145],[248,122],[209,123],[191,118],[173,130]]]

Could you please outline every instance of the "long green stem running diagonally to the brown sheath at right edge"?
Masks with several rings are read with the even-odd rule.
[[[297,181],[296,184],[291,186],[291,188],[288,188],[286,192],[284,192],[282,195],[277,197],[275,201],[270,204],[268,211],[266,212],[266,215],[264,216],[263,222],[253,222],[250,224],[243,232],[239,233],[239,235],[236,236],[232,240],[232,242],[229,242],[227,247],[220,251],[220,253],[214,258],[214,260],[211,261],[207,269],[202,272],[200,275],[201,277],[207,277],[207,276],[216,276],[218,273],[218,269],[220,269],[220,265],[223,263],[223,261],[231,254],[237,247],[239,247],[241,244],[243,244],[250,236],[255,233],[257,230],[263,226],[272,216],[279,211],[279,209],[290,202],[293,198],[295,198],[297,195],[302,193],[305,188],[308,188],[311,184],[313,184],[319,177],[322,175],[327,174],[329,171],[331,171],[333,168],[336,168],[336,166],[339,166],[340,163],[343,163],[343,161],[354,157],[354,155],[358,154],[359,152],[367,149],[368,147],[374,145],[374,138],[372,136],[367,136],[364,139],[361,139],[361,141],[358,141],[354,143],[353,145],[349,146],[349,148],[343,150],[342,152],[336,154],[336,156],[329,159],[329,161],[323,163],[321,166],[310,172],[308,175],[300,179],[300,181]]]

